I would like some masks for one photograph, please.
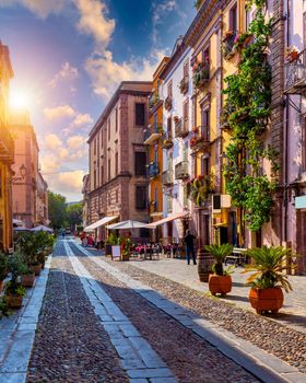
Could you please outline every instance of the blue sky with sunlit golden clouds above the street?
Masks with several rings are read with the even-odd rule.
[[[193,0],[0,0],[12,98],[31,112],[51,190],[81,199],[87,134],[118,82],[151,80],[195,14]]]

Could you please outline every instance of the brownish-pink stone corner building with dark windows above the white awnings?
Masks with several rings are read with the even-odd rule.
[[[152,82],[121,82],[90,132],[90,223],[104,217],[149,221],[143,142],[151,91]]]

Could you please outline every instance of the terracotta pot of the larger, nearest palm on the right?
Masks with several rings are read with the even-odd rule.
[[[249,302],[257,314],[262,314],[266,311],[276,314],[284,302],[283,290],[280,287],[270,289],[252,288],[249,291]]]

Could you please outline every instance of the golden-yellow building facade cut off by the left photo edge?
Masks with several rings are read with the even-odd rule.
[[[13,78],[9,48],[0,42],[0,249],[12,242],[12,170],[14,141],[8,125],[9,82]]]

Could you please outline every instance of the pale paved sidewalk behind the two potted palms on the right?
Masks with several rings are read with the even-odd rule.
[[[130,260],[129,263],[140,269],[209,293],[208,283],[199,280],[197,266],[188,266],[185,259],[161,258],[160,260]],[[248,301],[249,288],[245,286],[248,274],[242,274],[242,267],[234,269],[232,292],[226,298],[220,299],[254,312]],[[289,278],[293,291],[284,293],[284,306],[272,320],[306,334],[306,277],[290,276]]]

